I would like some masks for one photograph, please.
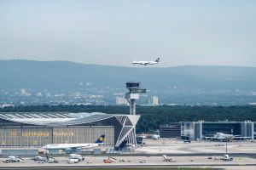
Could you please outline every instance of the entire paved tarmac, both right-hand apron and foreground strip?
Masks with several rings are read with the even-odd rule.
[[[132,148],[137,153],[131,156],[113,156],[117,162],[104,163],[108,155],[85,156],[84,161],[68,164],[68,155],[55,156],[59,163],[39,164],[32,161],[31,157],[22,157],[26,163],[4,163],[6,159],[0,158],[0,169],[65,169],[65,168],[89,168],[89,167],[208,167],[225,169],[256,169],[256,143],[230,142],[228,153],[234,157],[233,161],[208,159],[209,156],[224,156],[226,148],[224,142],[191,142],[184,144],[173,139],[145,139],[142,146]],[[162,155],[173,157],[174,162],[163,161]],[[109,155],[110,156],[110,155]],[[8,156],[6,156],[8,157]],[[144,161],[139,162],[139,161]]]

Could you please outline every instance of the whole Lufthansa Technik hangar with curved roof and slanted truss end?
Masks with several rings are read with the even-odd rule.
[[[0,145],[94,143],[105,134],[104,144],[115,148],[137,144],[135,127],[139,115],[67,112],[0,113]]]

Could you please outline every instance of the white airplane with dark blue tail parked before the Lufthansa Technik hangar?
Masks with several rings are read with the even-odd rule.
[[[81,148],[90,149],[95,148],[99,146],[100,144],[103,144],[103,141],[105,139],[105,134],[102,134],[100,138],[96,139],[95,143],[89,143],[89,144],[46,144],[43,146],[43,149],[45,150],[77,150]]]

